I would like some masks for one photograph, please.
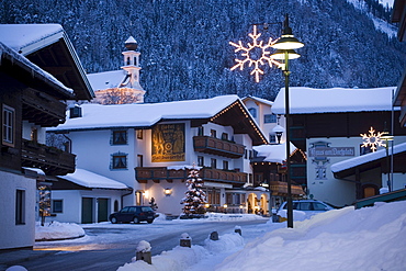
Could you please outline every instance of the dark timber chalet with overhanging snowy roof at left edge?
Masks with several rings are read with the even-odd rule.
[[[52,181],[75,171],[75,155],[47,146],[45,128],[65,122],[65,101],[92,91],[57,24],[0,25],[0,249],[32,248]]]

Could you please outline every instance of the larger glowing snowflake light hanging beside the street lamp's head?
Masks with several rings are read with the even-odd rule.
[[[270,37],[267,44],[264,44],[263,41],[258,41],[258,38],[261,36],[261,33],[257,33],[257,25],[253,25],[253,31],[252,33],[249,33],[248,36],[252,38],[252,44],[248,43],[247,47],[243,45],[241,41],[238,41],[238,44],[229,42],[230,45],[236,47],[234,52],[237,53],[241,50],[241,56],[245,57],[244,59],[236,58],[235,60],[237,64],[232,67],[232,70],[235,70],[236,68],[243,70],[246,64],[248,64],[248,67],[253,66],[250,75],[255,75],[256,82],[259,82],[259,75],[263,75],[263,70],[260,68],[260,66],[267,64],[269,65],[269,67],[272,67],[272,65],[275,65],[277,67],[282,66],[281,63],[271,58],[269,52],[271,45],[278,42],[278,39],[273,41]]]

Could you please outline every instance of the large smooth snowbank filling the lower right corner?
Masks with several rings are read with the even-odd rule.
[[[216,270],[405,270],[405,211],[395,202],[325,212],[266,234]]]

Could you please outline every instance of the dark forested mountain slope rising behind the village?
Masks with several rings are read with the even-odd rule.
[[[406,65],[406,44],[376,29],[374,20],[387,21],[391,11],[374,2],[3,0],[0,22],[61,24],[89,74],[120,69],[124,42],[133,35],[142,53],[146,102],[227,93],[273,100],[284,86],[281,71],[266,69],[259,83],[250,69],[230,71],[237,55],[229,42],[251,42],[253,23],[282,22],[284,13],[305,43],[297,49],[302,57],[291,61],[291,86],[396,86]],[[277,37],[280,31],[270,24],[262,37]]]

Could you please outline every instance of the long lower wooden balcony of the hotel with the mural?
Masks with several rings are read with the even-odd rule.
[[[187,180],[190,170],[174,170],[165,167],[135,168],[136,179],[140,183],[146,183],[148,180],[154,182],[173,180]],[[225,171],[221,169],[203,168],[199,172],[199,177],[204,181],[223,182],[243,185],[247,182],[247,174],[243,172]]]

